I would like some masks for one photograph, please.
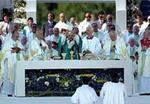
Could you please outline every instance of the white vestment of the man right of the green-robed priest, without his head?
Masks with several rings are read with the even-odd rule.
[[[89,50],[93,54],[101,55],[101,44],[98,38],[93,37],[92,39],[87,39],[84,37],[82,40],[82,51]]]

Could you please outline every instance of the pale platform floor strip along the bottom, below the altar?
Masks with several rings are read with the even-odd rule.
[[[6,97],[0,96],[0,104],[71,104],[70,97]],[[99,99],[96,104],[102,104]],[[150,104],[150,96],[132,96],[126,104]]]

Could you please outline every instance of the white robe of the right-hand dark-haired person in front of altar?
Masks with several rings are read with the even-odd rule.
[[[121,82],[106,82],[100,91],[103,104],[125,104],[126,96],[126,87]]]

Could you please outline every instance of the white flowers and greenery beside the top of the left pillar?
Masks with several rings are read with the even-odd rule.
[[[26,1],[25,0],[13,0],[14,3],[14,22],[21,25],[26,24]]]

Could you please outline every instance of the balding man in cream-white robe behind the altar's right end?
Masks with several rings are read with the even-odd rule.
[[[105,41],[103,46],[103,58],[114,60],[114,59],[127,59],[127,48],[124,40],[117,36],[117,33],[114,30],[109,32],[109,37]]]

